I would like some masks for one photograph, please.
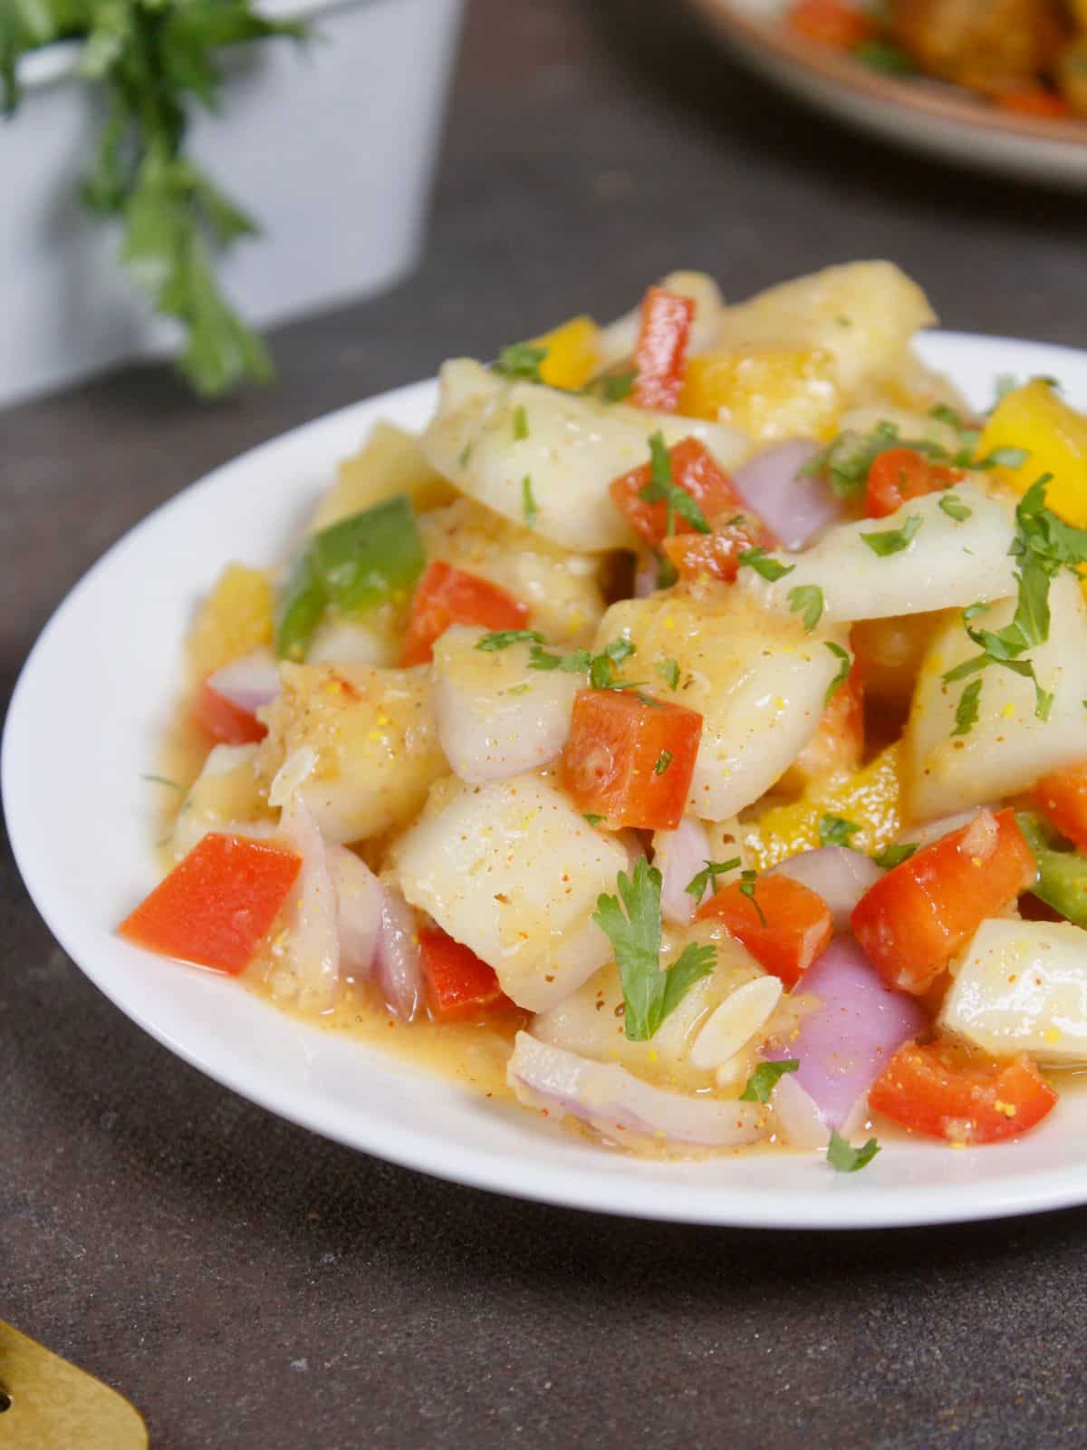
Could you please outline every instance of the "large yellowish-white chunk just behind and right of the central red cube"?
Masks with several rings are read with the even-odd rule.
[[[703,716],[687,805],[703,821],[736,815],[791,766],[839,666],[825,635],[806,635],[796,616],[767,615],[735,589],[623,600],[600,622],[596,650],[619,637],[635,645],[625,679],[651,682],[654,695]],[[670,660],[677,692],[661,680]]]

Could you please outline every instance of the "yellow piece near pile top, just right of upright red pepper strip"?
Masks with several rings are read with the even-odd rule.
[[[822,438],[838,431],[842,397],[822,348],[699,352],[687,361],[680,412],[732,423],[752,438]]]

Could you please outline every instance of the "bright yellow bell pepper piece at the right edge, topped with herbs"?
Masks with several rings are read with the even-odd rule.
[[[1023,494],[1051,473],[1045,500],[1077,528],[1087,526],[1087,416],[1070,407],[1049,383],[1036,377],[1006,393],[993,409],[978,442],[978,457],[994,448],[1023,448],[1026,460],[1000,476]]]

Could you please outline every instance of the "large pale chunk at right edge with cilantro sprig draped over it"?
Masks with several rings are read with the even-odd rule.
[[[1012,624],[1015,609],[1015,600],[1007,599],[978,624],[1000,631]],[[981,682],[977,724],[955,735],[955,710],[971,680],[948,684],[942,676],[980,651],[961,618],[933,638],[906,732],[907,815],[913,819],[1000,800],[1026,790],[1046,771],[1084,758],[1087,605],[1071,574],[1052,581],[1049,609],[1049,639],[1029,651],[1039,684],[1054,695],[1048,721],[1035,713],[1030,680],[993,664],[971,677]]]

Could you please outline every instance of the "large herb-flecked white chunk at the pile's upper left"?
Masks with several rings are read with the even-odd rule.
[[[522,419],[516,435],[515,413]],[[668,444],[700,438],[723,468],[751,452],[749,439],[720,423],[510,383],[468,358],[442,368],[423,448],[435,468],[488,509],[530,522],[535,534],[564,548],[599,554],[635,545],[609,484],[648,463],[648,439],[658,429]],[[525,478],[535,512],[526,510]]]

